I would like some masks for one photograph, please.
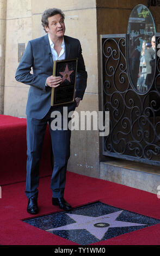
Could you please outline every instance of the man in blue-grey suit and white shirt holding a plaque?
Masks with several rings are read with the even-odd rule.
[[[42,26],[47,34],[28,42],[15,75],[17,81],[30,86],[26,107],[26,196],[28,198],[27,211],[30,214],[37,214],[39,211],[39,161],[47,123],[50,126],[54,154],[54,168],[51,178],[52,204],[58,205],[63,210],[71,209],[69,203],[64,199],[71,131],[69,129],[51,129],[53,120],[51,113],[53,111],[62,113],[63,109],[63,105],[51,107],[51,89],[58,87],[62,81],[61,76],[53,76],[54,60],[78,58],[75,102],[64,105],[67,106],[68,112],[78,107],[87,86],[87,72],[85,71],[81,44],[78,39],[64,35],[63,12],[56,8],[44,11]],[[33,68],[33,74],[30,72],[31,68]]]

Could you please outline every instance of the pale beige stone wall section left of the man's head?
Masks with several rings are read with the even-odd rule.
[[[25,117],[28,86],[17,83],[18,44],[32,39],[31,0],[7,1],[4,114]]]

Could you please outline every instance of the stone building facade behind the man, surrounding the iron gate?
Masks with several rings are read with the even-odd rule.
[[[139,3],[140,2],[140,3]],[[76,109],[81,111],[101,110],[101,56],[100,35],[126,34],[128,19],[137,4],[147,6],[147,0],[0,0],[0,112],[15,117],[26,117],[29,86],[17,83],[15,72],[28,40],[45,35],[41,15],[45,9],[60,8],[65,13],[66,35],[78,38],[88,72],[88,85],[83,101]],[[160,32],[160,7],[150,7]],[[79,114],[80,116],[80,114]],[[71,157],[68,169],[71,172],[107,179],[124,185],[156,193],[159,169],[152,176],[149,165],[124,162],[102,154],[99,131],[73,130]],[[143,172],[140,172],[140,170]],[[145,179],[144,169],[149,170]],[[159,182],[159,183],[158,183]]]

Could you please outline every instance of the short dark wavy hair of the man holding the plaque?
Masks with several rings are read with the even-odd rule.
[[[65,15],[64,15],[63,11],[61,11],[60,9],[57,9],[57,8],[47,9],[42,14],[41,22],[42,22],[42,26],[44,27],[44,31],[46,33],[47,33],[47,31],[46,31],[45,27],[48,27],[48,18],[52,17],[52,16],[54,16],[56,14],[60,14],[61,17],[63,19],[65,19]]]

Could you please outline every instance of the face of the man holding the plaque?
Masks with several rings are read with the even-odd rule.
[[[48,27],[45,27],[45,29],[51,36],[51,39],[62,38],[65,33],[63,17],[60,14],[48,17]]]

